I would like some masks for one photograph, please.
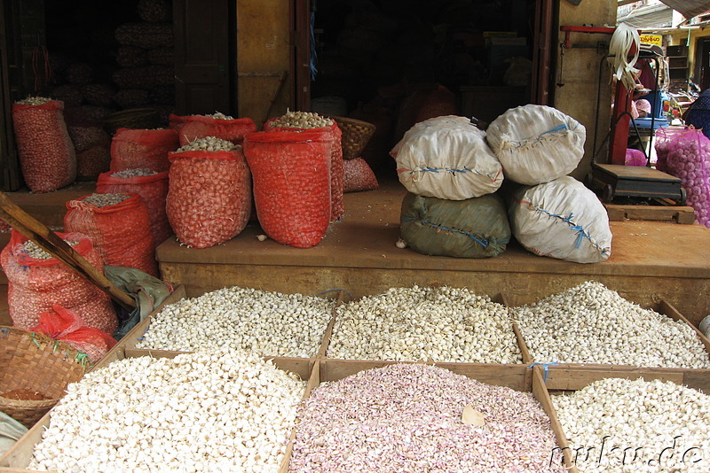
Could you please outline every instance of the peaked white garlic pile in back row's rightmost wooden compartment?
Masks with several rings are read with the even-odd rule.
[[[705,345],[690,325],[594,281],[513,307],[511,314],[533,361],[710,368]]]

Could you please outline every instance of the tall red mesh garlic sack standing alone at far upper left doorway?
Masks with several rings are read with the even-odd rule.
[[[20,169],[29,190],[51,192],[75,182],[76,151],[64,120],[64,103],[28,97],[12,105]]]

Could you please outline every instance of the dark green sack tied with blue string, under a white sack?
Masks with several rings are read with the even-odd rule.
[[[496,194],[445,200],[407,192],[399,233],[415,252],[455,258],[497,256],[510,241],[508,213]]]

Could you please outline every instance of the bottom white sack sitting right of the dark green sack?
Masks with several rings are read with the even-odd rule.
[[[568,175],[518,189],[509,218],[517,241],[540,256],[577,263],[596,263],[611,256],[604,205]]]

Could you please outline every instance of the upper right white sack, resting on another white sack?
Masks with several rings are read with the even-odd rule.
[[[506,179],[534,185],[570,174],[584,155],[587,130],[547,105],[511,108],[485,130]]]

